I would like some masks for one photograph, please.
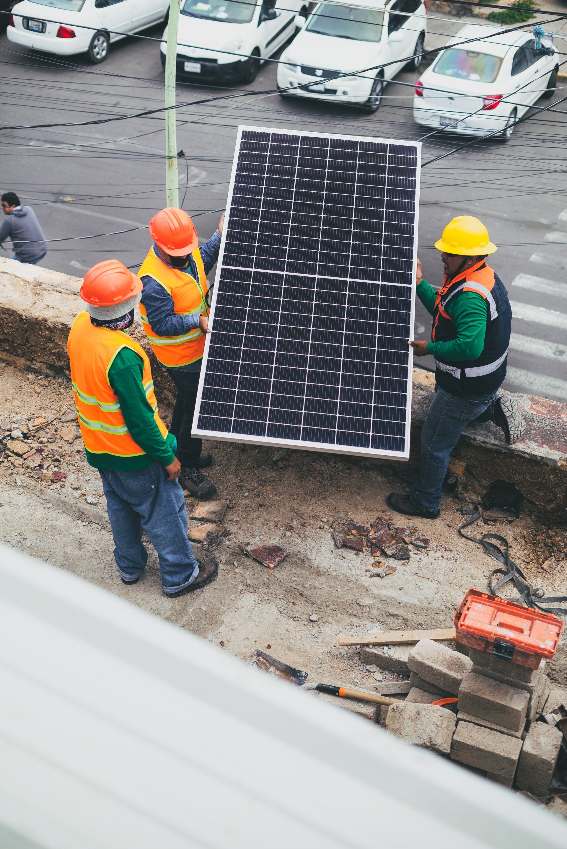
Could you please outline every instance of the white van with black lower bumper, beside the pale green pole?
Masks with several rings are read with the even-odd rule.
[[[309,0],[182,0],[177,73],[195,82],[254,82],[262,59],[295,35]],[[166,67],[166,38],[160,45]]]

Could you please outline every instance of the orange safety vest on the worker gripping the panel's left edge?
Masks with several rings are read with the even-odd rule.
[[[177,316],[202,315],[204,312],[205,315],[209,315],[209,307],[205,300],[207,278],[199,248],[196,248],[191,256],[193,256],[197,266],[198,280],[195,280],[187,272],[166,265],[164,261],[160,260],[159,256],[156,256],[153,246],[149,249],[148,256],[146,256],[138,271],[138,277],[144,277],[148,274],[149,277],[154,278],[156,283],[163,286],[167,294],[171,295],[173,299],[174,312]],[[163,366],[167,368],[187,366],[203,356],[205,335],[199,327],[189,330],[182,336],[158,336],[150,326],[146,308],[142,301],[140,301],[139,306],[143,329],[146,331],[155,356]]]

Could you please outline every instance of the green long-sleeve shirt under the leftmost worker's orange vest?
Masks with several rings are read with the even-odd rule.
[[[132,439],[145,451],[138,457],[116,457],[115,454],[87,452],[87,460],[95,469],[134,471],[145,469],[156,461],[169,466],[175,459],[176,438],[161,436],[155,423],[154,410],[143,390],[143,361],[131,348],[121,348],[109,368],[109,384],[120,402],[122,415]]]

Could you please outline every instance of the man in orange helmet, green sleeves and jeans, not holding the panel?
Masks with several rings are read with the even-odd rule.
[[[160,419],[148,356],[124,333],[141,290],[120,261],[93,266],[81,286],[87,312],[73,322],[67,350],[81,435],[103,481],[122,582],[137,583],[145,568],[145,531],[160,560],[163,591],[175,598],[211,582],[218,564],[194,559],[175,436]]]

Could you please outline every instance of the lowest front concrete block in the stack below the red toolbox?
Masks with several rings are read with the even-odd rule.
[[[453,761],[485,769],[486,773],[501,779],[514,780],[521,748],[522,741],[509,734],[499,734],[472,722],[458,722],[451,757]]]

